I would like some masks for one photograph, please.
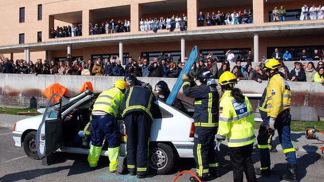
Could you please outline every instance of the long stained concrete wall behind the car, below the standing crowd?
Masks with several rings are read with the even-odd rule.
[[[42,95],[48,85],[58,82],[68,88],[68,96],[74,96],[79,93],[79,88],[85,81],[91,81],[95,92],[101,92],[113,86],[115,80],[121,77],[115,76],[72,76],[72,75],[31,75],[31,74],[0,74],[0,106],[6,107],[29,107],[31,97],[37,99],[38,105],[45,105],[47,100]],[[139,78],[144,82],[154,85],[159,80],[165,80],[172,89],[175,78]],[[258,83],[253,80],[241,80],[236,85],[246,94],[262,94],[268,81]],[[290,82],[292,90],[292,106],[308,106],[318,110],[319,116],[324,116],[322,102],[324,100],[324,84],[313,82]],[[179,92],[179,98],[192,102],[191,99],[184,98],[182,90]],[[254,109],[257,109],[257,100],[252,102]]]

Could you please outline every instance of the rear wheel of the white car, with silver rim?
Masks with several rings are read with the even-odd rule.
[[[170,172],[175,164],[175,153],[171,146],[153,143],[149,146],[148,165],[157,174]]]

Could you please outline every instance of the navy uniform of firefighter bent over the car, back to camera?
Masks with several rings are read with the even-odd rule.
[[[151,90],[142,86],[131,86],[125,93],[121,105],[127,135],[127,168],[137,175],[147,172],[147,154],[155,97]]]

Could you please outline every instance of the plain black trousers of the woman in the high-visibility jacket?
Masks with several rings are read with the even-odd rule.
[[[252,161],[253,143],[241,147],[228,147],[230,161],[233,166],[233,181],[243,182],[243,171],[247,180],[257,181]]]

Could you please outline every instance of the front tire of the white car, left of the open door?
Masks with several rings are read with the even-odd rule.
[[[36,149],[36,131],[29,132],[24,138],[24,151],[31,159],[39,159]]]

